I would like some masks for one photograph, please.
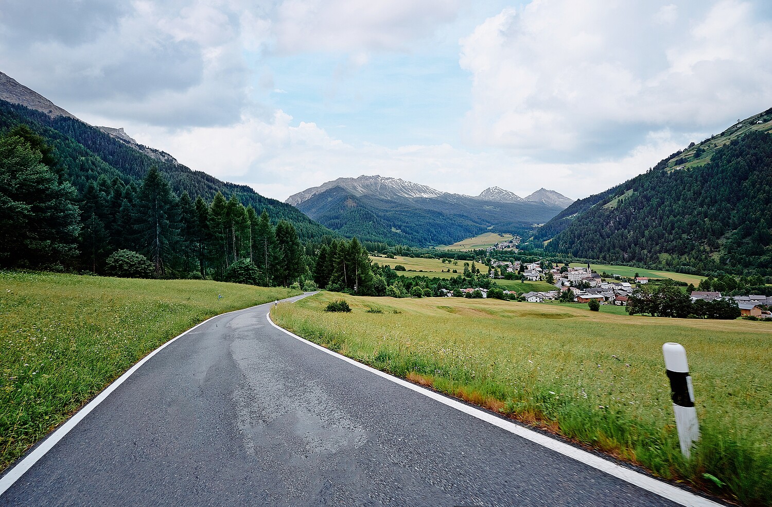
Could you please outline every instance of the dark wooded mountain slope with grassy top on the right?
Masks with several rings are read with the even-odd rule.
[[[574,202],[530,245],[685,272],[772,275],[770,133],[772,109]]]

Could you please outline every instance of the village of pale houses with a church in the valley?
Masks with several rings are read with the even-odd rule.
[[[590,303],[595,300],[601,305],[626,306],[632,292],[641,285],[649,282],[647,277],[636,277],[630,281],[621,279],[615,275],[613,281],[601,277],[594,272],[590,265],[586,267],[569,267],[567,265],[544,269],[538,262],[530,262],[522,265],[520,261],[506,262],[493,261],[490,264],[489,277],[492,279],[504,279],[506,273],[522,274],[524,280],[530,282],[546,281],[555,286],[554,290],[545,292],[525,292],[520,295],[528,303],[544,303],[546,301],[575,301],[576,303]],[[561,298],[564,292],[571,290],[573,299]],[[481,287],[462,289],[462,295],[479,292],[482,298],[488,297],[488,290]],[[516,291],[504,290],[507,296],[517,296]],[[452,292],[445,291],[445,296],[453,296]],[[714,301],[716,299],[733,299],[740,308],[742,316],[754,316],[758,319],[770,319],[772,313],[768,306],[772,306],[772,296],[723,296],[721,292],[692,291],[690,293],[692,303],[698,299]]]

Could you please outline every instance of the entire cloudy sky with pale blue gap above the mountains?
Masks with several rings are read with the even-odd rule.
[[[381,174],[583,198],[772,106],[772,3],[2,0],[0,70],[284,200]]]

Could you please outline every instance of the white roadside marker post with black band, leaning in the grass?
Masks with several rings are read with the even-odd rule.
[[[686,350],[680,343],[668,342],[662,345],[665,356],[665,370],[670,380],[670,396],[675,412],[675,428],[681,443],[681,452],[686,458],[692,454],[692,444],[699,440],[699,424],[694,407],[694,387],[686,363]]]

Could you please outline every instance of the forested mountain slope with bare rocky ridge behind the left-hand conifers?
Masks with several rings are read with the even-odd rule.
[[[236,195],[242,204],[252,204],[258,213],[266,209],[273,220],[285,218],[292,222],[300,238],[334,234],[289,204],[265,198],[245,185],[191,171],[170,154],[137,144],[122,129],[92,127],[0,73],[0,129],[19,123],[29,126],[54,147],[64,174],[81,193],[88,181],[96,181],[100,176],[108,181],[119,177],[125,183],[138,182],[156,165],[168,177],[175,193],[188,191],[192,198],[200,195],[207,201],[218,191],[228,198]],[[108,134],[105,129],[114,132]]]

